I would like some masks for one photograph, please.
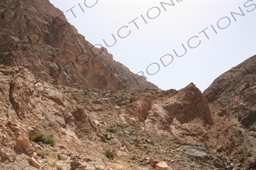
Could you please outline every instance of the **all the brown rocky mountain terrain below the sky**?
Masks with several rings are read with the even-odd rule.
[[[161,91],[47,0],[0,13],[0,170],[256,169],[256,55],[204,93]]]

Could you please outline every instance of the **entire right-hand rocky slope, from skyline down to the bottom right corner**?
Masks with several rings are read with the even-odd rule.
[[[215,126],[211,147],[239,158],[241,169],[255,168],[256,159],[256,55],[223,73],[204,91]]]

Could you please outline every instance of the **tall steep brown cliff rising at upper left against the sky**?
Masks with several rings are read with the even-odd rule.
[[[158,89],[135,78],[106,48],[94,48],[48,0],[3,0],[0,7],[0,63],[74,88]]]

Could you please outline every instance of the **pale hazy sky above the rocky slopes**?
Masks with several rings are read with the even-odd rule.
[[[50,2],[87,41],[163,90],[194,82],[204,91],[256,54],[256,0]]]

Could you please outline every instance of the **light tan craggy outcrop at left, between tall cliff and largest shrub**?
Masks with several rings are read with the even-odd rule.
[[[33,156],[36,147],[30,141],[30,132],[39,131],[38,128],[55,133],[66,128],[67,141],[104,139],[88,110],[71,97],[69,88],[42,82],[24,67],[0,65],[0,96],[2,162],[14,162],[15,153]],[[28,162],[38,168],[32,160]]]

